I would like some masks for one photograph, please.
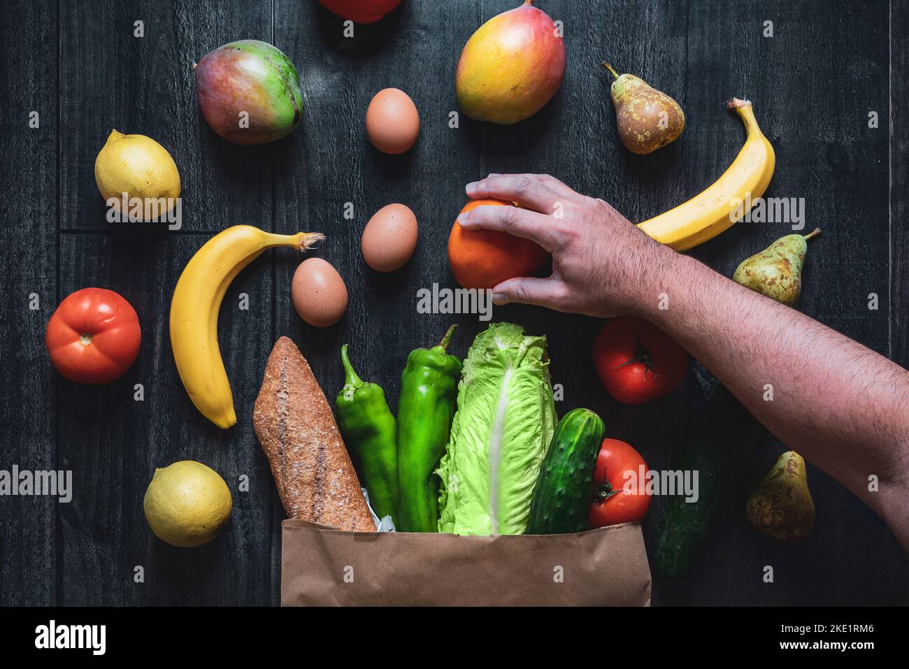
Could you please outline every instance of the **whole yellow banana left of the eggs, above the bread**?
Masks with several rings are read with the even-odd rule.
[[[235,225],[215,235],[186,264],[171,301],[171,347],[180,380],[195,408],[218,427],[236,423],[221,351],[218,311],[227,287],[266,248],[305,251],[325,239],[321,233],[273,235],[252,225]]]

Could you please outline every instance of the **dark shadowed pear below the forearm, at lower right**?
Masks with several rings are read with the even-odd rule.
[[[748,498],[746,512],[755,530],[779,541],[804,539],[811,532],[814,500],[801,455],[794,451],[780,455]]]

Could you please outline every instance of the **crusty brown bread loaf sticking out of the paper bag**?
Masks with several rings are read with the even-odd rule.
[[[375,532],[332,409],[287,337],[275,342],[268,357],[253,424],[289,517]]]

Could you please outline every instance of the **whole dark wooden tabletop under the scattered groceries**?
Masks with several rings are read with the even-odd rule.
[[[342,36],[315,0],[20,0],[4,6],[0,75],[4,277],[0,341],[0,468],[71,469],[70,504],[48,497],[0,498],[0,604],[277,604],[280,521],[268,464],[251,423],[266,357],[292,337],[333,397],[338,350],[349,342],[360,373],[396,403],[406,354],[433,344],[456,321],[454,352],[484,328],[475,316],[416,313],[416,291],[454,285],[445,242],[464,204],[464,183],[488,172],[546,172],[604,198],[634,221],[683,202],[720,175],[743,142],[724,109],[748,97],[774,144],[767,195],[804,197],[812,243],[802,308],[900,364],[909,362],[906,287],[905,96],[909,6],[805,0],[538,0],[564,22],[568,71],[552,104],[499,127],[454,111],[454,66],[485,19],[517,0],[405,0],[373,26]],[[135,21],[145,36],[134,36]],[[764,21],[774,36],[763,35]],[[192,65],[241,38],[282,49],[303,80],[303,121],[270,145],[231,145],[195,102]],[[889,46],[888,46],[889,45]],[[615,133],[608,56],[684,107],[682,138],[650,156],[630,155]],[[422,118],[415,149],[378,154],[365,138],[365,108],[397,86]],[[40,127],[28,127],[31,111]],[[879,116],[870,128],[869,112]],[[108,224],[95,187],[95,155],[111,128],[150,135],[175,157],[184,226]],[[355,219],[345,220],[345,203]],[[391,275],[365,266],[365,222],[391,202],[420,222],[414,259]],[[328,235],[318,255],[350,292],[345,319],[311,328],[295,314],[290,283],[297,255],[270,252],[231,287],[219,333],[239,423],[222,432],[195,411],[177,378],[168,310],[186,261],[228,225]],[[731,274],[744,257],[789,234],[785,224],[740,224],[693,253]],[[139,359],[112,384],[65,382],[48,363],[44,332],[58,302],[85,286],[124,295],[139,314]],[[249,310],[238,295],[249,295]],[[880,308],[869,310],[869,294]],[[30,295],[40,309],[30,310]],[[691,388],[628,408],[597,381],[589,349],[595,319],[541,309],[496,309],[496,320],[549,337],[560,413],[590,406],[608,434],[635,444],[657,469],[671,466],[692,411]],[[134,400],[144,384],[145,401]],[[805,410],[824,397],[805,397]],[[736,444],[729,444],[734,448]],[[765,435],[754,464],[766,470],[783,444]],[[164,544],[145,523],[142,498],[155,467],[199,460],[231,484],[234,513],[214,542],[195,550]],[[239,477],[249,492],[238,492]],[[654,583],[654,604],[905,604],[906,554],[884,523],[815,468],[814,533],[799,544],[755,534],[740,504],[724,508],[690,579]],[[644,524],[652,548],[664,501]],[[764,584],[764,564],[774,584]],[[135,583],[141,565],[145,582]]]

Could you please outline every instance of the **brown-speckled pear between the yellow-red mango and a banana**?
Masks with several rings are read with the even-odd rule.
[[[633,154],[649,154],[682,135],[684,112],[672,97],[639,77],[619,75],[612,65],[602,65],[615,77],[609,92],[619,139],[626,149]]]

